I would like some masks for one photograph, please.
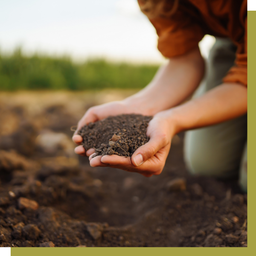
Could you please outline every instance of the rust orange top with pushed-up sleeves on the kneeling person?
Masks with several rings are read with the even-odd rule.
[[[223,81],[247,86],[247,0],[180,0],[171,17],[149,20],[167,58],[193,49],[206,34],[230,38],[238,47],[236,61]]]

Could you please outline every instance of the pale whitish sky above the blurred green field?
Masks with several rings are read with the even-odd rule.
[[[163,62],[157,35],[136,0],[1,0],[0,50],[75,60]],[[207,57],[215,38],[200,43]]]

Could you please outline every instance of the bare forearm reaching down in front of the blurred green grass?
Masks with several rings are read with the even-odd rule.
[[[196,48],[186,55],[169,59],[151,83],[125,99],[125,103],[139,108],[143,114],[154,115],[183,102],[198,87],[203,76],[204,60]]]

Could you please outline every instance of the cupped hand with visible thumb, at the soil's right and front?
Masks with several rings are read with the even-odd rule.
[[[138,172],[145,177],[159,175],[165,165],[174,135],[174,126],[165,111],[159,112],[148,124],[147,136],[150,140],[140,146],[131,158],[117,155],[101,155],[92,158],[90,155],[90,166],[108,166],[128,172]]]

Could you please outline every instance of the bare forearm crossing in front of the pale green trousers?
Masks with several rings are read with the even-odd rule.
[[[163,111],[170,125],[174,126],[173,134],[215,125],[245,113],[247,113],[247,88],[236,83],[221,84],[200,98]]]

